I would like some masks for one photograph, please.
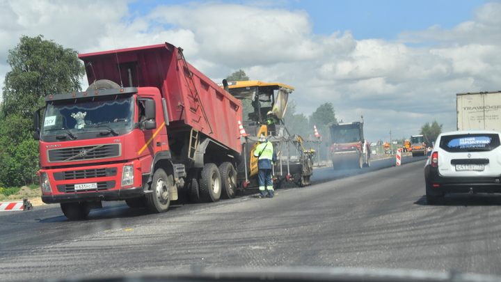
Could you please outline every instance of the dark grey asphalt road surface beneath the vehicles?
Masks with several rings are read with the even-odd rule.
[[[394,159],[392,159],[394,161]],[[315,170],[314,184],[147,214],[106,203],[85,221],[58,205],[0,213],[0,281],[271,266],[501,275],[501,196],[429,206],[424,159]],[[384,164],[388,162],[388,164]],[[331,175],[331,176],[328,176]],[[331,180],[335,179],[335,180]]]

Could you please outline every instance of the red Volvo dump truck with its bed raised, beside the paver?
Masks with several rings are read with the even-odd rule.
[[[49,95],[33,113],[44,203],[83,219],[102,201],[166,212],[178,191],[210,202],[252,188],[252,151],[242,144],[252,147],[257,136],[241,136],[241,101],[187,63],[181,48],[79,58],[87,90]]]

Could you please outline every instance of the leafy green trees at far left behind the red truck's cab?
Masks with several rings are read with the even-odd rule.
[[[84,65],[78,52],[43,36],[22,36],[8,51],[0,104],[0,187],[38,184],[38,141],[31,113],[55,93],[80,91]]]

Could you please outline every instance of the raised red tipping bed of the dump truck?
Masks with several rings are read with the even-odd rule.
[[[88,83],[109,79],[122,87],[155,87],[166,99],[168,130],[194,128],[241,152],[241,102],[184,60],[169,43],[80,54]]]

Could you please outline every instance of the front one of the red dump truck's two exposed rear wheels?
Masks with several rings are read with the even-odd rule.
[[[217,202],[221,198],[221,175],[216,164],[205,164],[200,178],[200,198],[205,202]]]

